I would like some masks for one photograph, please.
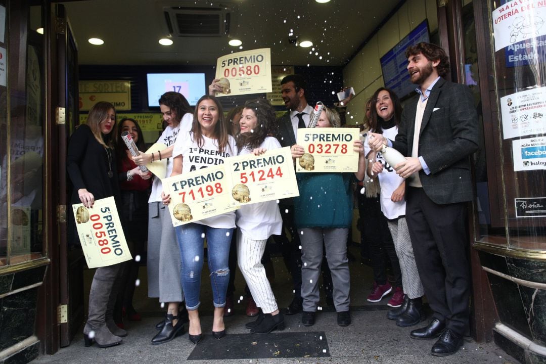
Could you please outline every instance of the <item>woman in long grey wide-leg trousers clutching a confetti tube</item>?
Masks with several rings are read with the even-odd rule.
[[[159,297],[159,302],[167,302],[165,318],[156,325],[160,330],[152,338],[152,344],[158,345],[171,341],[182,332],[183,325],[188,322],[184,305],[182,285],[180,282],[180,255],[173,223],[168,208],[161,204],[162,178],[169,177],[173,170],[173,148],[177,137],[183,137],[192,128],[193,110],[186,98],[177,92],[165,92],[159,98],[159,109],[167,127],[157,140],[167,146],[162,151],[149,154],[140,152],[133,157],[137,165],[145,165],[153,160],[167,159],[165,176],[154,176],[152,192],[148,200],[148,249],[147,273],[148,296]],[[182,312],[179,313],[179,307]]]

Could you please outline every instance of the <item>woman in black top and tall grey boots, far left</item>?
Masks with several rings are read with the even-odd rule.
[[[82,124],[70,137],[67,172],[73,185],[72,204],[84,204],[91,208],[95,200],[110,196],[114,196],[116,205],[120,203],[114,151],[116,133],[112,132],[115,127],[114,105],[99,102],[89,110],[87,123]],[[75,226],[70,225],[73,228],[70,229],[71,234],[78,236],[74,233]],[[84,327],[86,347],[93,342],[101,348],[111,347],[120,344],[121,336],[127,335],[125,330],[116,326],[112,315],[120,266],[99,267],[94,273],[89,293],[89,314]],[[108,307],[111,308],[109,312]]]

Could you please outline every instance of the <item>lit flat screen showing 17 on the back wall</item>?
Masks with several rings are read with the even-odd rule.
[[[149,73],[146,79],[150,108],[159,107],[159,97],[167,91],[183,94],[192,106],[206,93],[204,73]]]

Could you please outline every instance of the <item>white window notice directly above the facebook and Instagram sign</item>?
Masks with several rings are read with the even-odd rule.
[[[546,87],[501,97],[502,138],[546,134]]]

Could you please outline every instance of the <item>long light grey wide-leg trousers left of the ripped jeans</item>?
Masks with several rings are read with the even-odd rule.
[[[148,207],[148,296],[182,302],[180,249],[169,209],[162,202],[150,202]]]

